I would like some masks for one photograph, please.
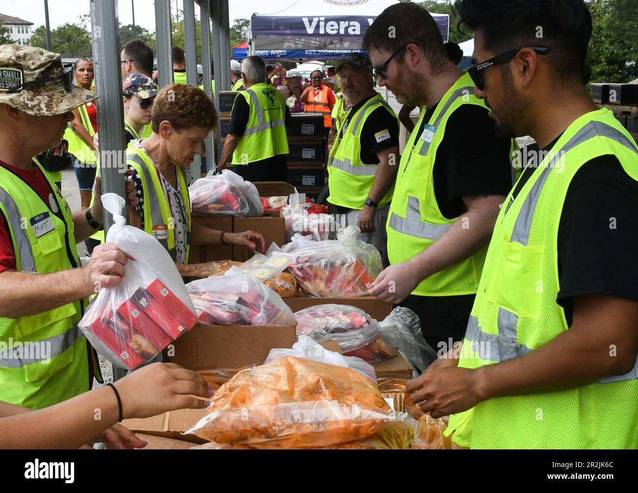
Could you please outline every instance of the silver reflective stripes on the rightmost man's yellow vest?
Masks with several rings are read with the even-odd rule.
[[[538,197],[540,197],[540,192],[547,181],[549,172],[558,162],[557,157],[573,149],[575,146],[584,143],[588,139],[595,138],[597,136],[604,136],[615,140],[619,144],[627,147],[630,151],[638,154],[638,150],[636,150],[631,141],[618,132],[618,130],[610,127],[609,125],[597,121],[592,121],[584,125],[584,127],[582,127],[582,129],[579,130],[574,137],[565,144],[565,146],[560,148],[559,153],[555,154],[548,164],[541,164],[543,167],[540,171],[541,175],[538,177],[532,189],[525,197],[521,211],[516,218],[510,242],[521,243],[523,246],[528,246],[531,222],[538,204]],[[507,214],[513,202],[513,200],[510,200],[505,210],[505,214]],[[477,354],[479,354],[480,358],[494,362],[503,362],[528,354],[532,351],[531,348],[517,343],[518,315],[516,315],[516,313],[512,313],[512,311],[506,310],[505,308],[499,308],[497,325],[498,335],[488,334],[487,332],[482,331],[479,325],[479,319],[473,315],[470,316],[465,338],[468,339],[468,341],[473,341],[472,348],[475,352],[477,352]],[[620,382],[622,380],[631,380],[634,378],[638,378],[638,359],[636,360],[632,371],[630,371],[627,375],[611,376],[596,383]]]

